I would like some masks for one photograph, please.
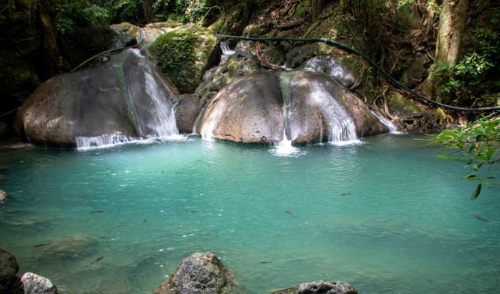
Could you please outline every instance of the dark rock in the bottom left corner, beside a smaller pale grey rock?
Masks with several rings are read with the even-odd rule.
[[[0,248],[0,293],[23,294],[23,285],[17,277],[18,270],[16,258]]]

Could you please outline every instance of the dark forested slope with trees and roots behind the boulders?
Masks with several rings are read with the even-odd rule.
[[[0,2],[0,113],[21,105],[42,81],[110,49],[117,38],[110,24],[125,21],[164,27],[198,23],[216,34],[331,38],[368,55],[429,98],[467,107],[499,103],[500,4],[495,0]],[[281,42],[263,46],[262,52],[279,64],[301,45]],[[345,54],[331,48],[318,53]],[[413,111],[408,124],[424,125],[419,120],[426,109],[412,105],[366,64],[361,68],[358,90],[368,103],[389,99],[392,108]],[[457,118],[441,113],[433,119],[445,124]],[[8,134],[12,116],[0,119],[0,133]]]

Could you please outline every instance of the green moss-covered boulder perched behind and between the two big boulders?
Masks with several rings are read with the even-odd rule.
[[[205,70],[214,66],[220,55],[216,36],[194,24],[166,32],[151,45],[149,52],[182,93],[194,92]]]

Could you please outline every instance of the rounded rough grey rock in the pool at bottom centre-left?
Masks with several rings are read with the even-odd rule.
[[[162,282],[153,293],[229,293],[233,276],[215,254],[197,252],[184,258],[171,278]]]

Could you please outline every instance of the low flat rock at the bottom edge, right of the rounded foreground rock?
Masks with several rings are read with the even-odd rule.
[[[358,294],[353,286],[345,282],[319,280],[298,286],[272,291],[270,294]]]

